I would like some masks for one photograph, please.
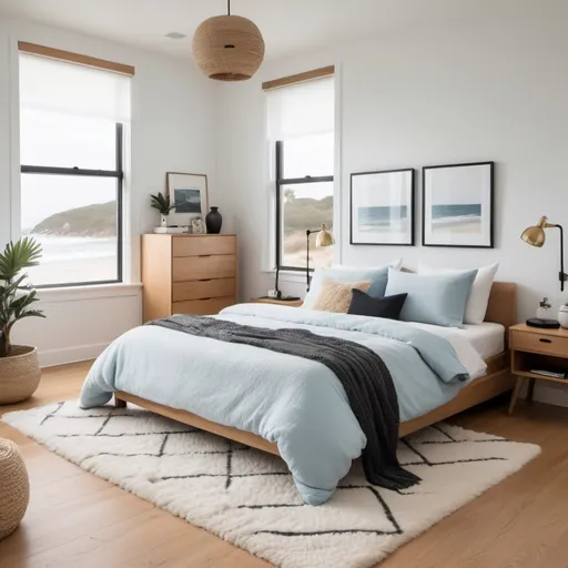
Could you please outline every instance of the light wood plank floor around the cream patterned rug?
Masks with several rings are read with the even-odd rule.
[[[0,407],[0,413],[77,398],[89,366],[45,369],[32,399]],[[381,568],[567,568],[568,409],[519,404],[509,417],[503,402],[453,422],[539,444],[542,454],[402,547]],[[268,566],[2,424],[0,437],[19,444],[31,479],[23,523],[0,542],[1,568]]]

